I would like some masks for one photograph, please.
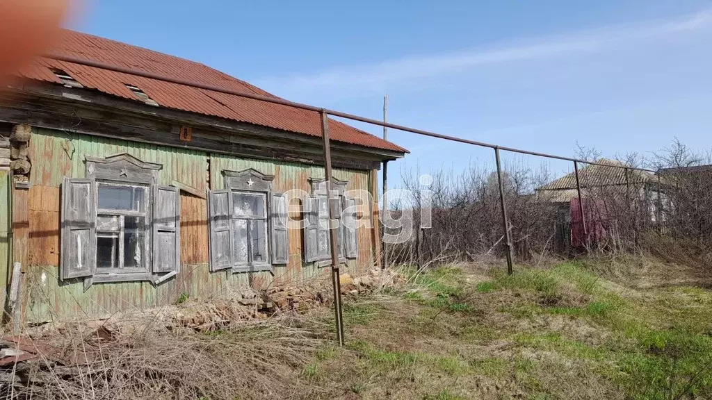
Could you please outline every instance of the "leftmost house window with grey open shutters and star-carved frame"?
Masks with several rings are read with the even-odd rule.
[[[85,157],[87,178],[62,184],[61,276],[163,282],[179,271],[179,196],[159,164],[129,154]]]

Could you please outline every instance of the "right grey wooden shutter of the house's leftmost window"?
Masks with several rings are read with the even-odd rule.
[[[177,187],[155,186],[153,272],[180,270],[180,196]]]

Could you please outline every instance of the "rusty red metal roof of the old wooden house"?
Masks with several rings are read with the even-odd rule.
[[[201,63],[86,33],[63,31],[63,35],[51,52],[157,73],[171,78],[192,80],[221,88],[276,97],[256,86]],[[61,80],[49,68],[64,70],[85,88],[99,90],[121,98],[141,101],[126,87],[126,84],[130,84],[140,88],[162,107],[224,117],[303,135],[321,136],[318,113],[286,105],[240,98],[48,58],[38,59],[34,65],[24,68],[19,75],[34,80],[61,83]],[[329,127],[330,139],[337,142],[395,152],[408,152],[407,149],[397,144],[387,142],[342,122],[330,119]]]

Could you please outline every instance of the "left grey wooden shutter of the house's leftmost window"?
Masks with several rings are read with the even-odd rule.
[[[90,276],[96,268],[95,187],[94,179],[62,180],[62,279]]]

